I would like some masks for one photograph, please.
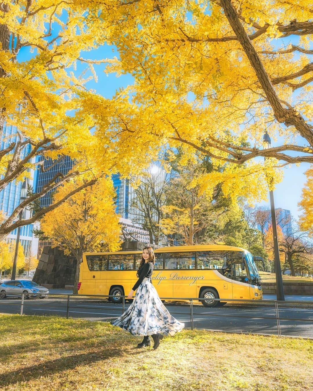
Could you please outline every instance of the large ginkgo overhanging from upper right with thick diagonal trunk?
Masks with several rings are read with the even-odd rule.
[[[126,145],[183,143],[217,165],[227,163],[225,183],[242,177],[263,191],[267,181],[259,172],[272,176],[273,188],[281,180],[275,166],[313,162],[307,0],[98,4],[108,27],[103,39],[120,55],[108,72],[135,77],[114,117]],[[265,149],[265,130],[273,140],[282,137],[281,145]],[[264,168],[257,157],[268,158]]]

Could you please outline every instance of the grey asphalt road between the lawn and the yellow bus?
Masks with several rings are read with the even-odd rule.
[[[50,296],[47,299],[25,300],[23,314],[26,315],[59,315],[67,314],[67,296]],[[304,302],[305,303],[305,302]],[[126,308],[129,304],[126,304]],[[191,328],[190,305],[177,303],[166,304],[169,312],[179,321]],[[6,298],[0,301],[0,312],[19,314],[20,298]],[[110,321],[121,315],[122,305],[109,303],[98,298],[70,298],[70,317],[81,317],[90,320]],[[236,306],[206,308],[202,305],[193,307],[194,328],[221,330],[225,332],[276,334],[277,320],[273,304],[263,303],[261,306]],[[266,317],[268,319],[262,319]],[[302,308],[279,306],[281,334],[293,337],[313,338],[313,306]],[[299,320],[306,319],[306,320]]]

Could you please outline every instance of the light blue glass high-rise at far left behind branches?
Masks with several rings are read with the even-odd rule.
[[[12,142],[16,142],[16,127],[11,125],[4,125],[4,131],[2,138],[0,140],[0,151],[7,148]],[[14,150],[12,151],[14,152]],[[31,152],[31,144],[25,145],[21,158],[25,158],[27,154]],[[35,158],[32,160],[34,163]],[[36,177],[36,172],[31,170],[31,177]],[[4,176],[1,176],[3,179]],[[32,186],[33,191],[35,191],[34,180],[29,179],[29,186]],[[12,215],[14,209],[20,204],[20,195],[21,195],[22,182],[11,181],[8,185],[0,191],[0,211],[4,217],[9,217]],[[26,211],[26,218],[30,217],[30,211]],[[17,219],[17,217],[16,217]],[[33,230],[38,228],[39,223],[28,224],[20,228],[20,244],[22,244],[24,249],[25,256],[37,255],[38,239],[34,237]],[[7,235],[7,243],[16,242],[17,229],[10,232]]]

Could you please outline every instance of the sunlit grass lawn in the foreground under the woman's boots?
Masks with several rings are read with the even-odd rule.
[[[105,322],[0,315],[1,390],[312,390],[313,341],[183,330],[157,350]]]

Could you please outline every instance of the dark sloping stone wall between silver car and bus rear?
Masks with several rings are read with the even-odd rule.
[[[64,255],[57,247],[45,246],[33,281],[47,288],[69,289],[74,286],[76,263],[74,256]]]

